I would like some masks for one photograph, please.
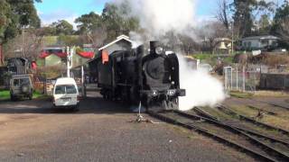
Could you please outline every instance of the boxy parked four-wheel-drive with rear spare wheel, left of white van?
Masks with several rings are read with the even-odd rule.
[[[20,97],[33,99],[33,83],[30,75],[13,75],[10,79],[10,97],[14,101]]]

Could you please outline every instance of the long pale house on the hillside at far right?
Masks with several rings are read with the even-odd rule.
[[[241,49],[256,50],[269,49],[278,46],[278,37],[273,35],[246,37],[241,40]]]

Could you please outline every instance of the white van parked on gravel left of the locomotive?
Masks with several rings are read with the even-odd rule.
[[[61,77],[56,80],[53,89],[54,107],[68,107],[79,110],[79,89],[71,77]]]

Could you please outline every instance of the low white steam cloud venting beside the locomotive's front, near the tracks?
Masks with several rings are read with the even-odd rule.
[[[205,70],[194,70],[182,56],[179,56],[181,87],[186,96],[180,97],[180,110],[188,111],[194,106],[214,106],[225,98],[222,83]]]

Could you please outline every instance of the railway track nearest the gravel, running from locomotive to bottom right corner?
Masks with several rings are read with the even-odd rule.
[[[241,149],[254,157],[258,157],[258,159],[265,161],[289,160],[287,154],[267,144],[266,140],[269,138],[261,138],[257,133],[253,134],[246,130],[239,130],[238,128],[218,121],[216,118],[210,119],[213,116],[202,117],[197,114],[180,111],[149,112],[149,114],[160,120],[180,125],[189,130],[196,130],[201,134],[217,139],[229,146]],[[271,138],[270,141],[277,142],[274,138]],[[282,145],[288,144],[284,141],[278,142]]]

